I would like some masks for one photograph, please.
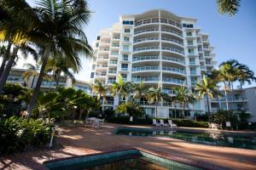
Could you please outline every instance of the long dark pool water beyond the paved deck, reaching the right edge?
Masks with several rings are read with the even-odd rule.
[[[210,144],[256,150],[256,135],[244,133],[195,133],[181,130],[153,130],[146,128],[121,127],[116,134],[130,136],[160,136],[181,139],[191,143]]]

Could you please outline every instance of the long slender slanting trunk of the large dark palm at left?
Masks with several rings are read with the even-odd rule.
[[[50,47],[47,47],[45,49],[45,52],[44,52],[43,63],[42,63],[41,71],[40,71],[39,76],[38,76],[38,81],[37,81],[37,84],[36,84],[36,88],[34,89],[34,93],[32,95],[32,99],[31,99],[31,102],[30,102],[29,107],[28,107],[28,116],[26,118],[27,122],[29,121],[29,119],[32,115],[32,111],[34,109],[34,106],[36,105],[36,100],[38,98],[39,90],[40,90],[40,87],[41,87],[41,82],[42,82],[43,77],[44,77],[44,69],[45,69],[47,61],[49,59],[49,53],[50,53]]]

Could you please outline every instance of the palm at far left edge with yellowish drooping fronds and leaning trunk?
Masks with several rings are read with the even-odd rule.
[[[30,39],[30,36],[28,36],[28,30],[30,27],[28,26],[27,22],[21,21],[21,19],[31,15],[32,8],[28,5],[28,3],[21,0],[1,1],[0,11],[1,14],[3,14],[3,17],[1,17],[0,20],[0,41],[8,42],[9,44],[5,53],[5,58],[8,59],[8,61],[6,65],[4,64],[5,67],[0,78],[1,93],[3,90],[3,85],[9,76],[9,71],[15,64],[18,51],[22,50],[23,52],[30,52],[35,57],[37,57],[37,54],[32,46],[28,43]],[[14,48],[12,49],[11,53],[12,46]]]

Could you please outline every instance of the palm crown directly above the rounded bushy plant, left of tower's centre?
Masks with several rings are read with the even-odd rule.
[[[114,96],[119,95],[119,99],[124,99],[131,93],[131,82],[125,82],[119,75],[117,82],[113,82],[111,90]]]

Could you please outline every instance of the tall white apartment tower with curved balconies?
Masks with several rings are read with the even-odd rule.
[[[93,61],[90,82],[99,80],[106,85],[117,81],[144,82],[148,87],[160,84],[164,93],[175,95],[173,88],[185,85],[191,89],[216,62],[208,35],[195,27],[196,19],[180,17],[172,12],[154,9],[143,14],[120,15],[119,22],[102,29],[93,42],[96,59]],[[155,107],[142,98],[141,105],[148,116]],[[102,102],[104,104],[104,102]],[[105,108],[119,105],[118,98],[108,94]],[[174,110],[177,110],[176,114]],[[181,105],[162,102],[158,116],[179,118]],[[204,112],[201,100],[186,105],[186,118]]]

